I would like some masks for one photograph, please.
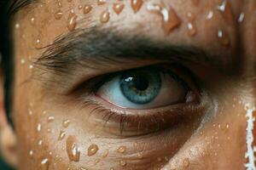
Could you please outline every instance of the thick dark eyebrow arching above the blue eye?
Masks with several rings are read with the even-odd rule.
[[[45,47],[44,53],[34,65],[56,74],[70,74],[78,66],[101,69],[143,59],[212,65],[225,72],[229,69],[235,71],[234,67],[237,65],[226,65],[221,56],[209,54],[201,48],[173,45],[113,30],[96,26],[86,31],[77,29],[68,32]]]

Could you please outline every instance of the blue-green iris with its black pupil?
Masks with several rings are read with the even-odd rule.
[[[161,77],[157,71],[130,71],[120,78],[120,89],[132,103],[145,105],[160,92]]]

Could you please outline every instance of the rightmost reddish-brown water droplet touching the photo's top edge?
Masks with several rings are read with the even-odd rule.
[[[231,4],[229,2],[224,1],[223,3],[218,5],[218,10],[220,11],[222,16],[224,17],[225,21],[228,21],[228,22],[232,21],[232,19],[233,19],[233,11],[232,11]]]

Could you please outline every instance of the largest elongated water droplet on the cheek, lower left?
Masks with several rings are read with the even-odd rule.
[[[69,136],[66,141],[67,156],[70,161],[80,160],[80,150],[78,145],[75,143],[73,136]]]

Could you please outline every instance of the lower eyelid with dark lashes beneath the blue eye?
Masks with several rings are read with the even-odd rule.
[[[172,128],[176,123],[191,121],[198,118],[205,111],[204,104],[181,104],[165,108],[136,111],[114,108],[113,105],[98,103],[98,99],[91,102],[89,122],[100,127],[105,133],[114,136],[132,137],[156,133],[159,130]],[[93,109],[94,108],[94,109]]]

